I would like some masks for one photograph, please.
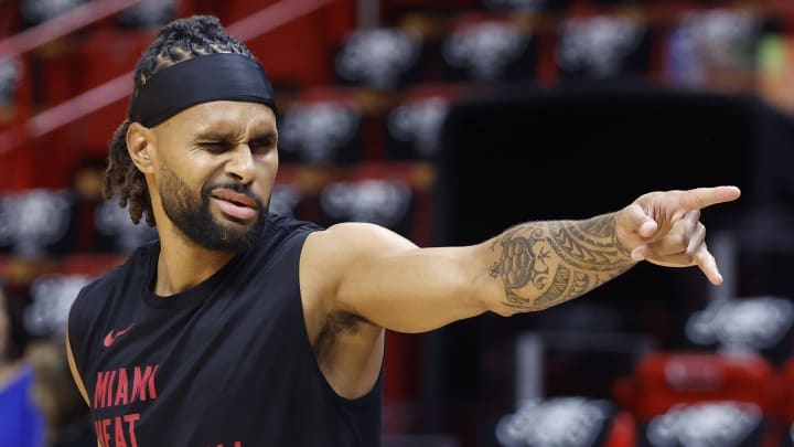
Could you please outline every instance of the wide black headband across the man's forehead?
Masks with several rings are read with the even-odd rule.
[[[259,63],[233,53],[189,58],[163,68],[130,99],[129,119],[153,127],[212,100],[259,103],[276,111],[272,86]]]

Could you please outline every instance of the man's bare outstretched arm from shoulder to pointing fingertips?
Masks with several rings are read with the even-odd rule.
[[[527,222],[481,244],[419,248],[377,226],[341,224],[312,244],[334,259],[315,290],[326,312],[360,316],[387,329],[418,332],[475,315],[534,311],[603,285],[639,260],[698,266],[721,283],[706,246],[700,210],[738,199],[734,187],[652,192],[626,207],[582,221]],[[312,270],[310,267],[309,272]],[[305,290],[304,290],[305,291]],[[312,291],[309,287],[308,291]]]

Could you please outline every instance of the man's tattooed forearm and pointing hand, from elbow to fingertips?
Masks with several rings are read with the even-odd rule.
[[[620,212],[584,221],[518,225],[493,240],[491,276],[504,285],[505,307],[538,310],[586,294],[639,260],[698,266],[722,283],[706,246],[700,209],[738,199],[733,187],[652,192]]]

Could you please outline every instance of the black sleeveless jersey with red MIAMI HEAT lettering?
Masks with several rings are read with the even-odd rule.
[[[299,259],[314,224],[276,215],[202,284],[152,294],[159,242],[86,286],[68,331],[103,446],[377,447],[383,371],[339,396],[307,334]]]

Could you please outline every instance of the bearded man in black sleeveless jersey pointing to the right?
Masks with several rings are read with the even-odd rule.
[[[270,214],[275,108],[214,18],[168,24],[142,55],[106,192],[160,237],[85,287],[68,321],[100,445],[377,446],[386,329],[540,310],[642,259],[722,281],[699,210],[738,199],[733,187],[458,247]]]

